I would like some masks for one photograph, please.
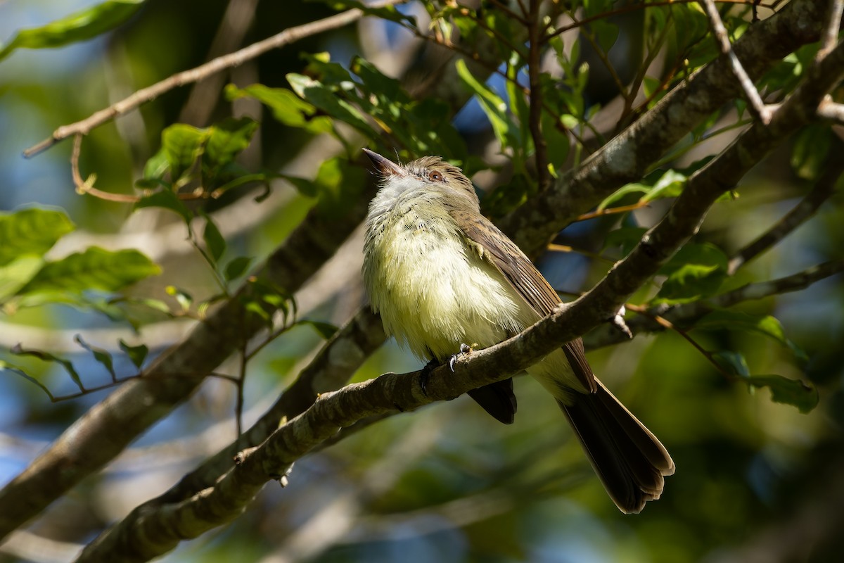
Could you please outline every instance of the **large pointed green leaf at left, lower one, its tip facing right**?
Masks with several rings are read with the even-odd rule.
[[[111,252],[92,246],[46,263],[19,294],[117,291],[159,273],[161,268],[137,250]]]

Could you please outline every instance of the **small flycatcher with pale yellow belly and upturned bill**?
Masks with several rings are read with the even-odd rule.
[[[419,358],[447,361],[489,347],[549,314],[560,297],[513,241],[480,214],[463,172],[436,156],[397,165],[364,149],[381,173],[366,218],[363,274],[387,334]],[[527,369],[560,405],[621,512],[663,492],[674,462],[592,374],[580,338]],[[512,380],[469,393],[510,423]]]

